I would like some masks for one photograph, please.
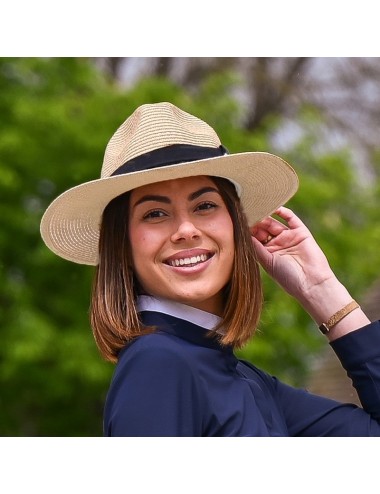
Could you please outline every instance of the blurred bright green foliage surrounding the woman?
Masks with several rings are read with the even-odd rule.
[[[45,247],[46,206],[99,176],[107,141],[142,103],[169,100],[203,117],[231,152],[271,149],[280,122],[242,130],[242,108],[228,96],[239,84],[227,73],[211,75],[197,94],[160,78],[125,91],[86,58],[0,60],[1,435],[102,434],[113,366],[100,358],[88,322],[93,270]],[[320,156],[314,145],[308,136],[285,157],[301,178],[290,205],[360,299],[377,275],[379,189],[360,187],[347,153]],[[260,331],[241,355],[300,383],[323,340],[295,301],[265,275],[264,283]]]

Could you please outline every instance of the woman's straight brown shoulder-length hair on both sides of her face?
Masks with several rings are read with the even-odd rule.
[[[234,228],[235,257],[231,279],[224,290],[223,334],[214,332],[222,345],[241,348],[254,334],[262,309],[260,269],[247,220],[234,185],[210,177],[229,211]],[[90,307],[96,344],[105,360],[117,362],[118,353],[132,339],[151,333],[142,325],[136,309],[139,285],[131,268],[128,235],[130,192],[113,199],[105,208],[99,239]],[[218,328],[216,328],[218,329]]]

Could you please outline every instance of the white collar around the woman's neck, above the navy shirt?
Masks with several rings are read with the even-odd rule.
[[[215,329],[215,327],[222,320],[215,314],[196,309],[190,305],[173,302],[172,300],[167,300],[160,297],[151,297],[150,295],[140,295],[137,298],[137,310],[138,312],[145,310],[162,312],[164,314],[168,314],[169,316],[184,319],[185,321],[191,322],[205,329]]]

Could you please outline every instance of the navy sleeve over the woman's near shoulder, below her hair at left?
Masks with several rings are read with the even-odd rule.
[[[106,400],[105,435],[201,435],[201,383],[183,352],[137,341],[119,364]]]

